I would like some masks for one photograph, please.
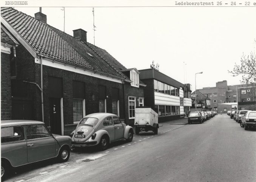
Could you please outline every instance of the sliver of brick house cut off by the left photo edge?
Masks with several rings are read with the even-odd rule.
[[[11,65],[19,43],[1,25],[1,120],[12,118]]]

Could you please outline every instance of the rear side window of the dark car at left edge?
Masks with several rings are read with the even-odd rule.
[[[25,140],[23,126],[11,126],[1,128],[1,143]]]

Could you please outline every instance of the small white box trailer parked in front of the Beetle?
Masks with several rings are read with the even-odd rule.
[[[134,125],[136,134],[140,131],[153,131],[157,135],[158,114],[150,107],[136,107]]]

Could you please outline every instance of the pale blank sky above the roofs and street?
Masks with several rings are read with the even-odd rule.
[[[95,46],[126,68],[148,69],[154,61],[163,74],[190,83],[192,91],[195,74],[201,71],[196,75],[197,89],[214,87],[222,80],[228,85],[240,84],[242,77],[233,77],[228,70],[240,64],[243,54],[256,52],[256,6],[184,7],[166,0],[46,2],[51,3],[28,1],[25,7],[15,9],[34,17],[42,6],[47,23],[64,31],[61,6],[65,6],[66,33],[86,30],[88,42],[95,41]]]

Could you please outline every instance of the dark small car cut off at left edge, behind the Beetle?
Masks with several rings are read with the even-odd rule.
[[[52,134],[41,121],[1,121],[1,179],[12,167],[49,158],[66,162],[70,146],[70,136]]]

